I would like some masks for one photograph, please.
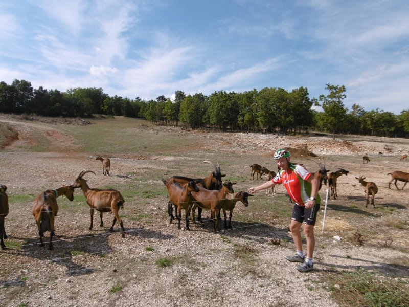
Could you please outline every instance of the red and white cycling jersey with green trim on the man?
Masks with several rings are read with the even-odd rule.
[[[294,203],[305,206],[311,195],[311,183],[307,180],[312,174],[301,164],[290,164],[287,171],[280,169],[272,179],[275,184],[283,184]],[[317,204],[321,204],[320,195],[316,195]]]

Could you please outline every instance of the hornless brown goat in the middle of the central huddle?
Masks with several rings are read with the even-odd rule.
[[[221,186],[220,190],[208,190],[202,187],[199,187],[198,192],[191,192],[192,196],[196,200],[194,206],[201,207],[205,210],[210,210],[212,212],[212,220],[213,220],[213,232],[216,232],[218,228],[218,215],[220,214],[220,209],[222,208],[223,202],[222,200],[226,199],[227,194],[234,193],[233,185],[236,182],[225,182]],[[193,221],[194,216],[193,216]]]

